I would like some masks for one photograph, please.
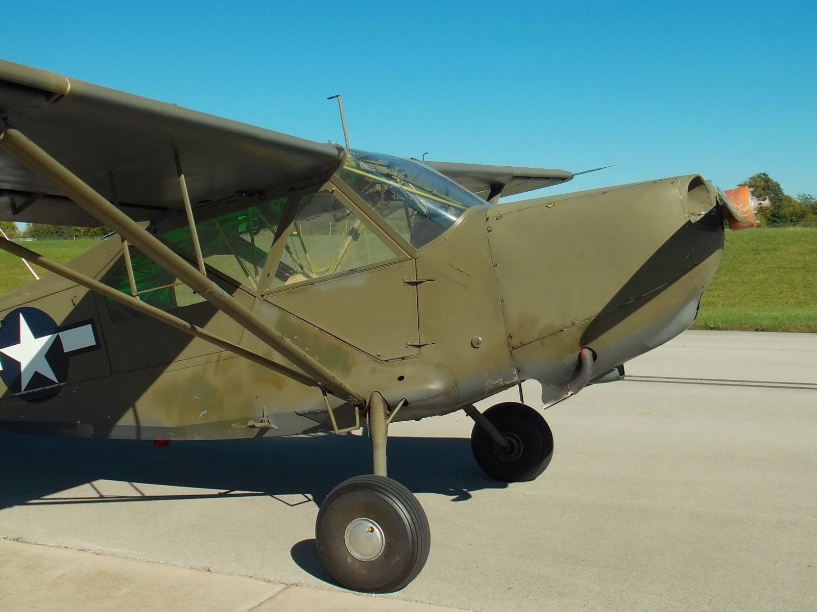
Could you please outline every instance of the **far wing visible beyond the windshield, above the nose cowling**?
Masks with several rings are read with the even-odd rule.
[[[513,166],[484,166],[452,162],[426,162],[435,171],[457,181],[484,199],[492,201],[501,193],[512,196],[542,187],[566,183],[574,177],[566,170],[546,168],[516,168]]]

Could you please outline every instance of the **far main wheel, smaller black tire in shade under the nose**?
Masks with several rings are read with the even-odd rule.
[[[471,431],[471,451],[490,477],[506,482],[532,481],[553,456],[553,434],[536,410],[515,401],[491,406],[484,416],[509,442],[503,450],[480,425]]]

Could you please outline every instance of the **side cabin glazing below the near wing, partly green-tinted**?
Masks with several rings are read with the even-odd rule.
[[[327,189],[197,220],[196,231],[207,268],[253,291],[259,285],[263,292],[399,257]],[[159,236],[195,261],[189,226]],[[109,286],[162,310],[205,301],[135,247],[128,246],[127,252],[106,277]],[[142,316],[113,299],[106,303],[114,322]]]

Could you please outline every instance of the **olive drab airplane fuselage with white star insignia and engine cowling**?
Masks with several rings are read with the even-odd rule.
[[[406,400],[397,419],[417,419],[525,379],[542,383],[548,404],[564,396],[581,348],[592,348],[602,374],[663,344],[694,320],[722,247],[721,207],[692,175],[474,206],[413,257],[265,295],[214,276],[352,386],[377,389],[391,406]],[[109,280],[122,257],[112,237],[72,265]],[[19,362],[17,388],[6,384],[0,399],[0,429],[202,439],[332,428],[318,388],[149,317],[118,320],[108,300],[59,277],[16,291],[0,308],[2,329],[15,335],[0,344],[54,338]],[[20,314],[33,313],[20,308],[47,314],[53,329],[39,323],[20,335]],[[210,304],[184,311],[284,361]],[[81,325],[92,326],[93,342],[72,353],[60,330]],[[15,355],[28,353],[3,355],[13,368]],[[328,400],[338,427],[354,424],[350,404]]]

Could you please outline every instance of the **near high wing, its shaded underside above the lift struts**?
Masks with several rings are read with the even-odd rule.
[[[133,220],[183,207],[179,165],[195,207],[287,184],[323,182],[342,151],[175,104],[0,60],[0,121]],[[0,220],[99,221],[0,149]]]

